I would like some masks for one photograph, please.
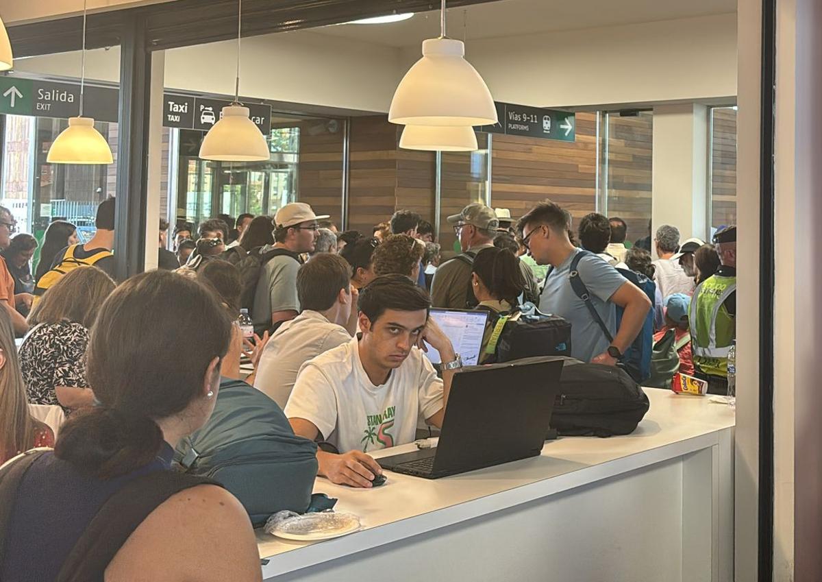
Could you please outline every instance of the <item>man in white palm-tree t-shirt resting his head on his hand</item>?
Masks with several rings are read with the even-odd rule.
[[[420,418],[441,427],[462,361],[428,319],[430,305],[408,277],[377,277],[359,294],[363,337],[302,367],[285,416],[298,436],[320,437],[340,451],[316,454],[318,474],[331,482],[371,487],[382,469],[367,451],[412,442]],[[423,339],[441,355],[442,380],[417,347]]]

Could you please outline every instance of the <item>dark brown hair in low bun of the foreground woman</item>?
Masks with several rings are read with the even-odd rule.
[[[150,463],[163,446],[156,421],[201,398],[205,371],[229,349],[231,326],[214,293],[192,279],[169,270],[128,279],[91,330],[86,376],[100,405],[72,414],[54,455],[100,479]],[[208,381],[218,377],[219,367]]]

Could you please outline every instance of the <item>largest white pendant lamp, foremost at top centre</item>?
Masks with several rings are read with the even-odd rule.
[[[483,77],[464,59],[465,45],[446,37],[446,0],[440,22],[440,38],[423,40],[423,58],[399,81],[388,121],[452,127],[496,123],[494,99]]]

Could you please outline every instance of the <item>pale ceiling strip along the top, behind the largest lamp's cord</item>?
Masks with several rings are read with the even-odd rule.
[[[448,35],[483,39],[727,14],[737,0],[498,0],[448,11]],[[313,33],[407,47],[439,36],[439,12],[381,25],[335,25]]]

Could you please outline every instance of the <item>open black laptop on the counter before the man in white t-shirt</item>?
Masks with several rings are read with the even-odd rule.
[[[562,360],[467,367],[454,375],[439,445],[378,459],[383,469],[436,479],[537,456]]]

